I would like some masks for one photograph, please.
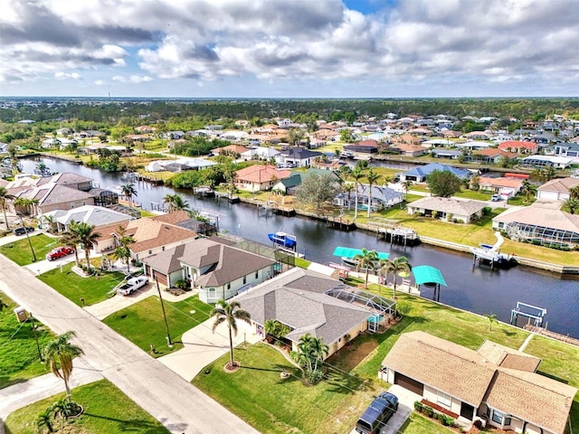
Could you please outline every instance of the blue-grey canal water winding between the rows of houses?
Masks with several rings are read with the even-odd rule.
[[[128,184],[120,174],[107,174],[98,169],[74,165],[51,158],[23,159],[24,172],[31,173],[43,161],[53,172],[73,172],[92,178],[101,188]],[[135,183],[138,196],[134,199],[144,209],[151,203],[162,203],[173,188]],[[431,265],[441,269],[448,288],[441,288],[441,303],[460,307],[479,314],[493,313],[508,322],[510,311],[521,301],[546,308],[547,328],[564,335],[579,337],[579,281],[562,279],[557,275],[517,266],[513,269],[495,269],[472,266],[470,254],[444,250],[427,245],[413,248],[391,246],[379,241],[375,234],[365,231],[343,232],[326,228],[324,222],[303,217],[283,217],[258,209],[246,203],[230,204],[215,199],[200,199],[190,191],[180,190],[192,208],[219,213],[220,229],[243,238],[269,244],[268,233],[286,231],[297,237],[298,250],[306,259],[321,263],[339,262],[332,256],[337,246],[366,248],[390,252],[390,257],[406,256],[413,266]],[[517,252],[515,252],[517,253]],[[432,297],[432,289],[422,288],[423,297]]]

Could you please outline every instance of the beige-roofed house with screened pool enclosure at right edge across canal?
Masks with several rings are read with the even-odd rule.
[[[560,208],[560,202],[544,200],[508,208],[492,219],[492,227],[507,232],[513,241],[573,248],[579,245],[579,215]]]

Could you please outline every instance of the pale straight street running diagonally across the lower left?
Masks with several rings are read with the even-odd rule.
[[[0,255],[0,290],[33,312],[55,333],[74,330],[85,352],[83,362],[114,383],[171,432],[258,432],[163,363],[34,278],[34,274]]]

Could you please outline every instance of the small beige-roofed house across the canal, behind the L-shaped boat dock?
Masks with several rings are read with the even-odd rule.
[[[413,203],[408,203],[408,213],[436,217],[448,222],[470,223],[482,217],[484,202],[456,199],[451,197],[424,197]]]

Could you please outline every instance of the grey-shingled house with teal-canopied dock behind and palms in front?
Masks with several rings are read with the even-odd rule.
[[[243,292],[235,300],[251,314],[257,335],[265,337],[266,321],[277,320],[289,326],[285,338],[293,350],[297,350],[299,338],[308,333],[327,344],[328,357],[364,332],[373,314],[337,297],[341,290],[352,288],[337,279],[296,268]],[[350,296],[354,298],[355,294],[350,292]]]

